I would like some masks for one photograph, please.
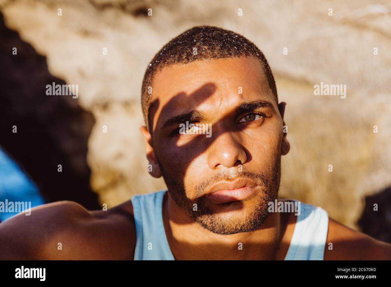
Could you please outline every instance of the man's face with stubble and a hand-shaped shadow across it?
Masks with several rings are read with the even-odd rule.
[[[267,203],[277,198],[280,158],[289,144],[283,134],[285,103],[276,103],[258,59],[165,67],[152,89],[152,138],[141,130],[152,174],[163,175],[178,207],[217,234],[262,225]],[[211,128],[180,133],[186,121]]]

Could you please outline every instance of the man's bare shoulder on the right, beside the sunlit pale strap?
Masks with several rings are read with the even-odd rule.
[[[324,259],[391,260],[391,245],[329,218]]]

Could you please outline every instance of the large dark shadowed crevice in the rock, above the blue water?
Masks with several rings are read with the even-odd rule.
[[[0,145],[37,184],[46,201],[72,200],[87,209],[100,209],[86,162],[95,123],[92,114],[72,95],[46,94],[47,84],[66,83],[50,75],[46,58],[8,29],[1,13],[0,35]],[[62,172],[57,171],[59,164]]]

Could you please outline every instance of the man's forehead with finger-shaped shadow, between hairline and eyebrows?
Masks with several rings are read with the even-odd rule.
[[[206,59],[163,68],[154,75],[151,109],[157,119],[186,111],[223,112],[251,100],[267,100],[276,106],[264,69],[256,57]],[[242,93],[239,93],[241,90]]]

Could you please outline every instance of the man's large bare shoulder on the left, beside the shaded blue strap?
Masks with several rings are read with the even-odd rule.
[[[1,259],[133,259],[131,201],[89,211],[73,201],[35,207],[0,223]]]

